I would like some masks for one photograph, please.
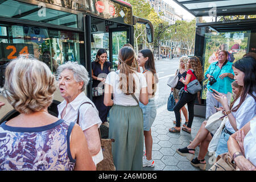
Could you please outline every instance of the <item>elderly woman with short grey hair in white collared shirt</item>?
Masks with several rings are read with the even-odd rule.
[[[97,164],[103,159],[98,133],[98,127],[102,122],[96,106],[84,93],[89,81],[88,72],[82,65],[69,61],[60,65],[57,73],[60,94],[64,98],[64,101],[58,105],[59,118],[68,122],[79,121],[78,124],[84,131],[90,154],[94,163]]]

